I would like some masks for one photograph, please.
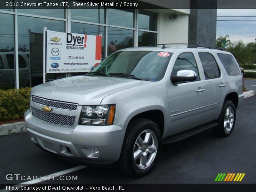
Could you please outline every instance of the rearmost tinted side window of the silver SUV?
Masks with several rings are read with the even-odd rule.
[[[241,75],[240,69],[238,68],[236,61],[230,54],[224,53],[217,53],[218,57],[220,58],[228,76],[236,76]]]

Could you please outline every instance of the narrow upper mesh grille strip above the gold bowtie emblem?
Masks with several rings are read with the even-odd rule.
[[[64,102],[59,102],[59,101],[52,101],[48,99],[43,99],[43,98],[38,98],[35,96],[32,96],[32,101],[42,104],[42,105],[47,105],[55,108],[61,108],[61,109],[68,109],[68,110],[77,110],[78,104],[72,104],[72,103],[64,103]]]

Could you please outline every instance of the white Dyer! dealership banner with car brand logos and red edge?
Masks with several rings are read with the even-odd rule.
[[[101,36],[46,31],[46,73],[89,72],[101,61]]]

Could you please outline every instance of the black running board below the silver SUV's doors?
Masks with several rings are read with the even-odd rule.
[[[186,131],[183,131],[181,133],[174,134],[172,136],[164,138],[163,139],[163,144],[173,143],[173,142],[182,140],[184,138],[187,138],[189,136],[192,136],[192,135],[197,134],[199,132],[202,132],[204,130],[213,128],[213,127],[215,127],[217,125],[218,125],[217,122],[210,122],[210,123],[206,123],[206,124],[203,124],[201,126],[198,126],[198,127],[195,127],[195,128],[192,128],[192,129],[189,129],[189,130],[186,130]]]

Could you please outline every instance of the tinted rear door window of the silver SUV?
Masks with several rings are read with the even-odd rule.
[[[204,76],[206,79],[217,78],[220,76],[220,70],[218,65],[210,53],[198,53],[199,58],[201,60]]]

